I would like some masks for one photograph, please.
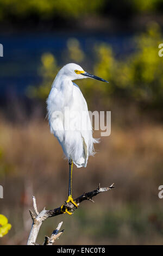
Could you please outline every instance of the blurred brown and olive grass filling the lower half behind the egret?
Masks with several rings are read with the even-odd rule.
[[[0,243],[21,245],[32,224],[32,196],[39,210],[57,208],[67,199],[68,164],[43,117],[14,124],[1,116],[0,145],[1,212],[12,224]],[[115,182],[116,187],[99,194],[95,203],[83,202],[73,216],[46,220],[37,242],[63,221],[65,232],[58,245],[162,243],[162,125],[135,121],[125,126],[113,121],[111,135],[101,138],[96,151],[86,168],[74,167],[73,197],[95,189],[99,182]]]

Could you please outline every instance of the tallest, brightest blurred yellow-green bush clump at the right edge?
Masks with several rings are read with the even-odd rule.
[[[137,51],[128,59],[132,94],[150,105],[162,105],[163,59],[158,55],[161,42],[159,26],[152,23],[147,33],[135,39]]]

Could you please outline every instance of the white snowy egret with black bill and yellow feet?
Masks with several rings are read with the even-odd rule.
[[[51,127],[51,132],[57,137],[62,150],[69,163],[69,188],[67,203],[71,202],[76,208],[78,205],[72,198],[72,167],[73,163],[77,167],[86,167],[87,159],[94,154],[93,143],[98,140],[92,136],[92,125],[87,109],[87,103],[82,92],[73,80],[83,78],[94,78],[99,81],[107,82],[106,80],[85,72],[81,66],[69,63],[65,65],[57,74],[52,84],[51,92],[47,99],[48,120]],[[68,108],[68,114],[65,112]],[[74,115],[74,113],[76,113]],[[82,118],[82,113],[85,113],[87,119]],[[78,126],[83,121],[86,129]],[[66,124],[71,123],[71,127]],[[64,209],[64,210],[63,210]],[[71,215],[66,206],[61,206],[63,213]]]

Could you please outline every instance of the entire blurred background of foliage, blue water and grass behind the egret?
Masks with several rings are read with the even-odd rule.
[[[12,228],[1,245],[26,244],[32,196],[39,211],[67,199],[68,164],[51,135],[46,99],[62,65],[77,63],[109,81],[77,81],[91,111],[111,111],[111,135],[73,171],[73,197],[98,183],[116,188],[60,221],[58,245],[151,245],[163,239],[163,2],[0,0],[0,214]],[[95,132],[94,137],[99,137]]]

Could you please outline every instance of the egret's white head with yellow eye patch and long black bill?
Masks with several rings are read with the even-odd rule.
[[[89,74],[88,72],[84,71],[81,66],[74,63],[68,63],[67,65],[63,66],[63,68],[59,71],[59,73],[61,75],[70,77],[71,80],[93,78],[102,82],[109,83],[108,81],[104,80],[101,77]]]

